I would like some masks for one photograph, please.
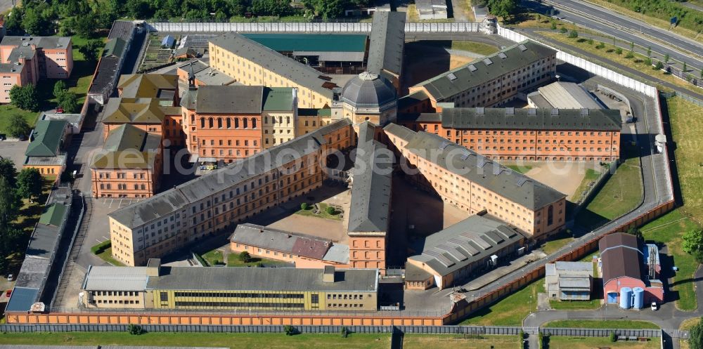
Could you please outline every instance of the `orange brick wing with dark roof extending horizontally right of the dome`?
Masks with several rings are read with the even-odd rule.
[[[444,108],[400,114],[398,123],[496,160],[614,162],[620,157],[619,110]]]

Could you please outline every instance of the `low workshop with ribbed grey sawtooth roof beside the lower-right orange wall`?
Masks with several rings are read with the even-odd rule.
[[[405,288],[460,286],[522,253],[525,237],[487,216],[470,216],[418,240],[406,263]]]

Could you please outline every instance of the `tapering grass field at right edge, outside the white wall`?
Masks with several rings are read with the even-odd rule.
[[[703,224],[703,107],[674,97],[666,100],[671,133],[676,142],[676,166],[683,194],[683,211]]]

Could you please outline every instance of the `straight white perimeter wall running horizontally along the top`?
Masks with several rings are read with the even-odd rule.
[[[480,23],[406,23],[406,33],[465,33],[478,32]],[[172,33],[337,33],[366,34],[371,32],[371,23],[359,22],[266,22],[266,23],[228,23],[228,22],[148,22],[150,32]]]

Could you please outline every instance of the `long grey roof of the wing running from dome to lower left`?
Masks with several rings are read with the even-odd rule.
[[[188,202],[197,202],[200,199],[238,185],[244,180],[258,176],[259,173],[270,171],[281,163],[292,162],[298,158],[293,157],[292,154],[302,157],[314,152],[327,142],[325,140],[326,134],[351,124],[352,122],[349,119],[335,121],[314,132],[247,157],[240,162],[210,171],[171,190],[161,192],[141,202],[124,206],[121,209],[117,209],[117,211],[109,213],[108,216],[127,226],[127,228],[136,228],[179,209],[185,209]],[[280,162],[272,164],[268,159],[277,159]]]

